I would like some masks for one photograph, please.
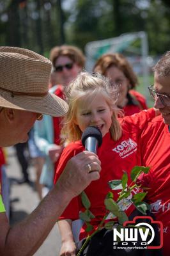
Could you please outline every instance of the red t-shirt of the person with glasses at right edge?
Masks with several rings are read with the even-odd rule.
[[[170,132],[162,116],[148,123],[141,136],[142,164],[151,166],[147,175],[141,175],[149,187],[146,200],[157,220],[164,225],[164,256],[169,256],[170,245]]]

